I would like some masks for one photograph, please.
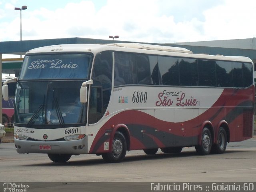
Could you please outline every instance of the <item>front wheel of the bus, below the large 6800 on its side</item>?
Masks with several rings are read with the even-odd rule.
[[[117,131],[112,142],[112,151],[102,153],[102,158],[108,163],[117,163],[124,159],[127,150],[127,143],[124,135]]]

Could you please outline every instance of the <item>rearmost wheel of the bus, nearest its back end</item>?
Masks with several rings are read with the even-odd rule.
[[[217,135],[217,143],[212,146],[212,153],[222,154],[227,147],[227,133],[226,130],[221,127]]]

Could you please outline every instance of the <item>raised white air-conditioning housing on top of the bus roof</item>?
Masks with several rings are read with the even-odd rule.
[[[127,48],[137,48],[137,49],[158,50],[158,51],[192,53],[192,51],[182,47],[170,47],[170,46],[151,45],[151,44],[142,44],[142,43],[113,43],[113,44],[107,44],[107,45],[127,47]]]

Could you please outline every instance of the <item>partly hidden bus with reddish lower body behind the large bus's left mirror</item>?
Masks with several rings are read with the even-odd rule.
[[[6,79],[2,79],[2,85],[5,80]],[[13,126],[15,89],[15,82],[8,84],[9,99],[5,101],[2,98],[2,124],[4,126]]]

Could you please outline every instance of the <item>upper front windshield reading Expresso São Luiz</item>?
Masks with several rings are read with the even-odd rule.
[[[91,54],[40,54],[24,57],[19,80],[88,79]]]

